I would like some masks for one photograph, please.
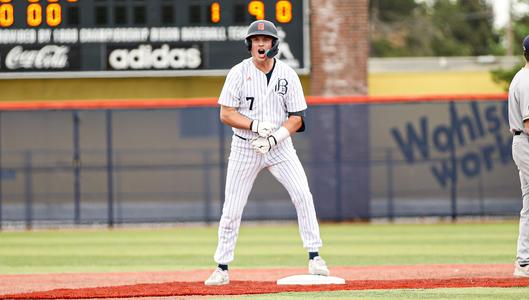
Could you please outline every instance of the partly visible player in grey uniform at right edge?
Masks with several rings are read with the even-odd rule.
[[[529,277],[529,36],[523,40],[525,66],[509,86],[509,128],[513,134],[512,158],[518,167],[522,210],[514,276]]]

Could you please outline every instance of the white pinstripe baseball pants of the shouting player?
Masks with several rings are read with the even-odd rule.
[[[233,136],[226,175],[226,197],[214,255],[215,262],[219,264],[233,261],[244,206],[257,175],[264,168],[268,168],[286,188],[294,203],[303,247],[316,252],[322,245],[307,176],[292,140],[288,138],[270,152],[261,155],[254,152],[248,141]]]

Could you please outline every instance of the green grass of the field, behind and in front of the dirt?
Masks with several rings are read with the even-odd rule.
[[[331,266],[511,263],[515,221],[439,224],[324,224],[321,254]],[[216,226],[4,231],[2,274],[213,268]],[[243,224],[232,268],[304,267],[295,224]],[[326,292],[318,299],[522,299],[526,288]],[[279,298],[281,297],[281,298]],[[304,299],[275,294],[251,299]]]

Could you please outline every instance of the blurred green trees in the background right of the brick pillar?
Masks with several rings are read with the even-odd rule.
[[[427,4],[429,3],[429,4]],[[372,56],[501,54],[485,0],[372,0]]]

